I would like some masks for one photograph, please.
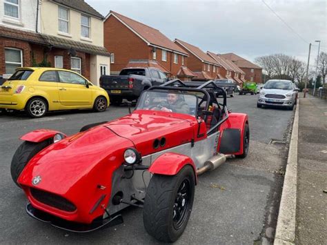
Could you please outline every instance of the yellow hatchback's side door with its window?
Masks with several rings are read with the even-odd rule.
[[[58,71],[59,99],[65,108],[92,107],[92,87],[87,88],[88,81],[80,75],[69,71]]]

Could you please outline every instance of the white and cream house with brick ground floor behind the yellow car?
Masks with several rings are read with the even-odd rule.
[[[75,70],[99,84],[101,72],[109,72],[104,17],[83,0],[0,0],[0,6],[3,77],[20,66],[50,66]]]

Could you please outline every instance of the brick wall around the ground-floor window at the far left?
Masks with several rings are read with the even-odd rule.
[[[31,48],[28,42],[0,37],[0,75],[6,73],[5,48],[17,48],[19,50],[22,50],[23,66],[31,66]]]

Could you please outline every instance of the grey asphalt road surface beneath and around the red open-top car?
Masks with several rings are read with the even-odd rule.
[[[257,244],[271,242],[275,229],[287,141],[293,112],[257,108],[255,95],[228,98],[232,112],[248,113],[250,152],[246,159],[229,159],[199,177],[195,203],[184,235],[176,244]],[[68,135],[86,125],[110,121],[128,113],[126,106],[106,112],[55,112],[41,119],[0,114],[0,243],[1,244],[157,244],[143,227],[142,210],[123,210],[124,224],[76,234],[38,222],[26,214],[26,197],[10,177],[10,161],[19,137],[37,128]],[[271,139],[286,144],[268,144]]]

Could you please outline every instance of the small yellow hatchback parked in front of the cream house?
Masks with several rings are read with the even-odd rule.
[[[109,105],[106,90],[77,72],[59,68],[17,68],[0,88],[0,108],[43,117],[49,110],[93,109]]]

